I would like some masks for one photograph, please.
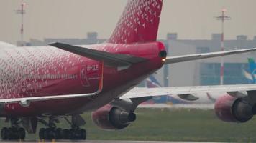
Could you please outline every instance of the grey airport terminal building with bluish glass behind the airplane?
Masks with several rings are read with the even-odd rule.
[[[87,34],[86,39],[44,39],[43,41],[31,39],[29,46],[43,46],[55,41],[80,45],[97,44],[106,41],[98,39],[96,32]],[[167,34],[166,39],[160,39],[168,50],[168,56],[182,54],[198,54],[213,51],[221,51],[221,34],[212,34],[211,39],[178,39],[178,34]],[[225,50],[247,49],[256,47],[256,36],[247,39],[247,36],[239,35],[237,39],[224,41]],[[247,58],[255,58],[256,52],[250,54],[237,54],[224,57],[224,84],[249,84],[250,81],[244,77],[244,70],[249,71]],[[178,64],[165,65],[157,71],[155,77],[165,86],[196,86],[217,85],[220,83],[221,59],[201,59],[198,61],[187,61]],[[144,83],[141,84],[144,86]]]

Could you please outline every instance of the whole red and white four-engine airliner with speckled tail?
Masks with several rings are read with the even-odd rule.
[[[198,92],[227,92],[216,101],[218,117],[250,120],[256,113],[255,84],[134,88],[164,64],[256,50],[167,56],[164,44],[156,41],[162,5],[163,0],[128,0],[104,44],[1,48],[0,117],[10,123],[1,129],[1,139],[25,139],[25,130],[35,133],[38,122],[45,125],[40,139],[86,139],[80,114],[91,111],[101,129],[124,129],[135,121],[138,104],[161,94],[193,100],[200,98],[193,95]],[[60,118],[70,129],[56,126]]]

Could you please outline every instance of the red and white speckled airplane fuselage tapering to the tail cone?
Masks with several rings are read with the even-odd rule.
[[[128,69],[104,66],[103,90],[93,97],[1,105],[1,117],[64,115],[97,109],[139,84],[163,66],[160,42],[97,44],[87,48],[148,59]],[[101,63],[52,46],[17,47],[0,52],[0,98],[39,97],[96,92]]]

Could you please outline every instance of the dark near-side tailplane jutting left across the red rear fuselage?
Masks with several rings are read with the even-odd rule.
[[[144,58],[130,56],[127,54],[113,54],[106,51],[98,51],[95,49],[88,49],[80,46],[73,46],[58,42],[52,43],[50,44],[50,46],[55,46],[59,49],[70,51],[71,53],[78,54],[80,56],[85,56],[96,61],[104,61],[104,64],[107,64],[109,66],[130,66],[131,64],[137,64],[147,60]]]

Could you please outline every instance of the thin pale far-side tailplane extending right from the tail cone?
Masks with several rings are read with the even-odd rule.
[[[231,50],[231,51],[217,51],[205,54],[188,54],[183,56],[169,56],[165,59],[165,64],[174,64],[183,61],[193,61],[196,59],[206,59],[212,58],[217,56],[227,56],[232,54],[240,54],[240,53],[247,53],[250,51],[256,51],[256,48],[252,49],[238,49],[238,50]]]

